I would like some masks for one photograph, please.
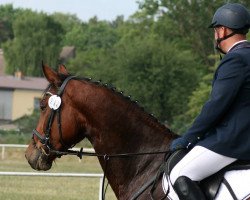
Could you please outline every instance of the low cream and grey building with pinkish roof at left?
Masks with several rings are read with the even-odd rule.
[[[29,115],[39,102],[48,82],[45,78],[0,75],[0,120],[13,121]]]

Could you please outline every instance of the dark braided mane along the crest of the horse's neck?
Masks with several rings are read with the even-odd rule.
[[[63,82],[68,76],[71,76],[71,75],[59,74],[59,76],[60,76],[60,78],[61,78],[61,80]],[[86,81],[86,82],[88,82],[90,84],[94,84],[94,85],[97,85],[97,86],[100,86],[100,87],[107,88],[111,92],[113,92],[113,93],[115,93],[115,94],[123,97],[126,101],[129,101],[129,102],[133,103],[135,106],[137,106],[137,108],[139,108],[143,113],[145,113],[146,115],[148,115],[148,117],[153,122],[157,123],[157,126],[162,126],[165,129],[167,129],[171,134],[173,133],[168,126],[163,125],[153,114],[149,114],[148,112],[146,112],[145,109],[144,109],[144,107],[142,107],[141,105],[138,104],[137,100],[135,100],[135,101],[132,100],[130,95],[129,96],[125,96],[123,91],[118,91],[116,89],[116,87],[114,87],[112,84],[102,83],[101,80],[96,81],[96,80],[93,80],[92,78],[86,78],[86,77],[75,77],[74,80]]]

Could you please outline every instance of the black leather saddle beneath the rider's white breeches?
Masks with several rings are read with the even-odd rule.
[[[174,153],[172,153],[164,165],[164,169],[163,169],[164,172],[169,175],[171,170],[174,168],[174,166],[187,153],[188,153],[188,151],[185,149],[177,150]],[[237,160],[234,163],[221,169],[217,173],[213,174],[212,176],[199,182],[199,185],[200,185],[202,191],[204,192],[206,198],[208,200],[213,200],[216,197],[217,192],[219,191],[221,183],[224,183],[226,185],[226,187],[228,188],[229,192],[231,193],[231,195],[233,197],[235,197],[235,194],[232,191],[230,185],[227,183],[226,179],[224,179],[224,175],[227,171],[244,170],[244,169],[250,169],[250,161]]]

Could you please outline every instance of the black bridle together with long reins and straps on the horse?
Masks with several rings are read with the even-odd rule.
[[[102,181],[102,199],[105,199],[105,193],[104,191],[104,186],[105,186],[105,178],[106,178],[106,173],[107,173],[107,167],[108,167],[108,161],[112,158],[128,158],[128,157],[135,157],[135,156],[143,156],[143,155],[155,155],[155,154],[166,154],[167,156],[169,155],[170,151],[156,151],[156,152],[141,152],[141,153],[121,153],[121,154],[98,154],[98,153],[91,153],[91,152],[84,152],[83,148],[80,148],[80,151],[74,151],[74,150],[69,150],[69,148],[72,148],[73,146],[68,146],[65,144],[63,137],[62,137],[62,129],[61,129],[61,96],[63,94],[63,91],[67,85],[67,83],[74,79],[75,76],[69,76],[67,77],[61,87],[59,88],[58,92],[56,95],[53,95],[50,92],[47,92],[51,97],[59,98],[60,103],[55,102],[56,105],[55,107],[51,107],[51,112],[49,115],[49,119],[46,125],[46,130],[44,131],[44,135],[39,133],[36,129],[33,130],[33,138],[36,136],[39,141],[48,149],[48,153],[42,148],[42,153],[49,156],[50,154],[55,155],[56,157],[60,158],[61,156],[64,155],[74,155],[82,159],[83,156],[94,156],[94,157],[101,157],[105,161],[105,167],[104,167],[104,176],[103,176],[103,181]],[[54,121],[55,116],[57,115],[57,126],[59,130],[59,135],[60,135],[60,143],[63,146],[63,149],[66,149],[66,151],[58,151],[55,150],[50,142],[50,133],[51,133],[51,127],[52,123]],[[148,189],[155,181],[155,177],[151,178],[146,184],[142,186],[142,188],[135,193],[135,195],[132,196],[131,200],[136,200],[146,189]],[[107,183],[108,186],[108,183]],[[151,199],[154,199],[152,196],[152,193],[150,193]]]

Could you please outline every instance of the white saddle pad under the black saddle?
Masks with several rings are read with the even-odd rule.
[[[250,170],[233,170],[226,172],[225,178],[233,189],[237,199],[246,200],[250,197]],[[169,178],[164,174],[162,188],[165,194],[169,191],[170,200],[179,200],[177,194],[169,184]],[[227,187],[222,183],[215,200],[233,200]]]

